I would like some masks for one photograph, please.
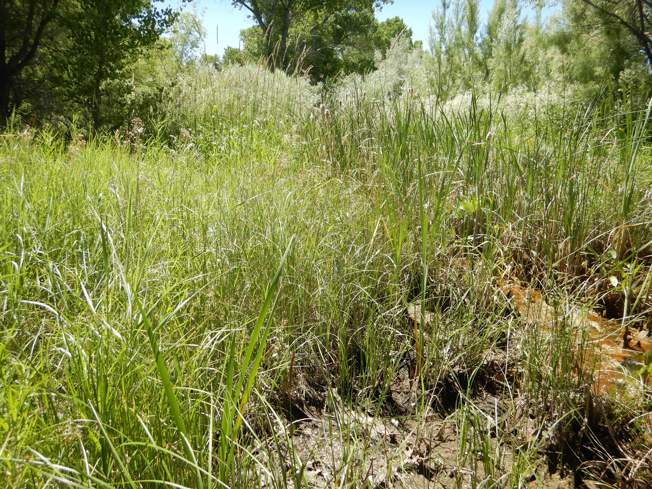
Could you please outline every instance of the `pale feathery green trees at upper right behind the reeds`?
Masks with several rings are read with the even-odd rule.
[[[627,93],[645,104],[650,84],[644,53],[631,33],[584,0],[568,0],[547,19],[522,14],[521,0],[494,0],[484,25],[475,0],[443,0],[430,32],[430,85],[437,97],[466,91],[510,93],[557,85],[585,95],[623,79]],[[624,88],[624,87],[623,87]],[[631,101],[629,95],[621,101]]]

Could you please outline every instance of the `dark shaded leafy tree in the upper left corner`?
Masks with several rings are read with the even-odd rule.
[[[100,128],[110,118],[103,86],[125,76],[177,15],[160,1],[0,0],[0,124],[58,97],[89,108]]]

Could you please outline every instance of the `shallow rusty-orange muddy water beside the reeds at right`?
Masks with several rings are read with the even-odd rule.
[[[499,288],[528,323],[538,325],[544,331],[550,331],[562,320],[573,327],[576,348],[583,348],[587,363],[593,365],[596,393],[641,396],[646,386],[637,372],[645,366],[645,351],[652,349],[652,338],[645,331],[629,330],[625,344],[625,330],[619,321],[603,319],[593,310],[581,306],[566,314],[557,312],[546,303],[540,291],[518,284],[503,282]],[[645,383],[652,385],[652,376],[647,376]]]

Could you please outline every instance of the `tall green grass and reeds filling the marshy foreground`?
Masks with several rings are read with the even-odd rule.
[[[649,306],[647,116],[619,123],[589,105],[555,127],[499,104],[354,93],[325,97],[322,119],[316,95],[291,90],[303,82],[274,78],[278,91],[261,76],[244,98],[179,98],[194,112],[136,149],[3,136],[1,480],[305,484],[305,461],[274,452],[291,445],[274,412],[291,370],[378,416],[396,359],[416,347],[417,416],[452,382],[460,439],[491,484],[517,487],[535,448],[497,473],[474,379],[507,349],[507,397],[581,421],[591,372],[569,311],[614,289],[616,269],[630,271],[637,311]],[[179,126],[190,138],[164,136]],[[499,280],[557,304],[550,338],[522,335]]]

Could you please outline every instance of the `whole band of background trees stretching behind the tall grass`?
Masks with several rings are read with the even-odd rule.
[[[484,23],[479,0],[443,0],[427,51],[401,18],[376,20],[382,2],[237,0],[256,25],[241,32],[243,49],[228,47],[222,60],[203,53],[206,32],[196,10],[157,10],[150,0],[52,1],[35,12],[36,20],[47,20],[35,54],[20,76],[4,78],[10,80],[5,88],[11,85],[5,107],[23,122],[49,121],[66,130],[75,121],[113,133],[130,128],[134,118],[159,127],[170,116],[170,94],[196,68],[260,62],[272,72],[307,75],[325,94],[361,76],[363,84],[365,77],[375,80],[373,90],[383,96],[409,87],[442,101],[471,92],[600,93],[615,110],[627,111],[644,106],[652,89],[630,29],[610,18],[606,4],[585,0],[567,0],[546,19],[541,9],[524,16],[522,0],[494,0]],[[12,5],[8,56],[19,54],[16,39],[27,29],[28,3]],[[0,98],[2,80],[0,73]],[[609,89],[600,91],[604,86]]]

